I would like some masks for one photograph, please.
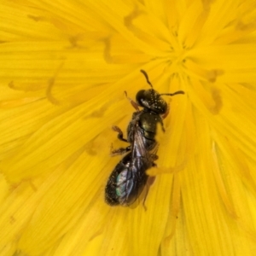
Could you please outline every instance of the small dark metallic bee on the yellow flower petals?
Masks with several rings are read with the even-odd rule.
[[[165,131],[163,119],[168,114],[168,105],[161,96],[184,94],[183,90],[172,94],[159,94],[149,82],[148,74],[143,70],[141,72],[152,89],[139,90],[136,96],[137,102],[128,98],[137,112],[132,114],[127,127],[127,139],[123,137],[119,127],[113,126],[113,131],[118,132],[119,140],[130,143],[130,146],[112,150],[112,155],[127,154],[108,178],[105,201],[110,206],[131,206],[142,193],[148,181],[146,171],[155,166],[154,160],[158,159],[156,155],[158,144],[155,141],[157,125],[161,125],[162,130]]]

